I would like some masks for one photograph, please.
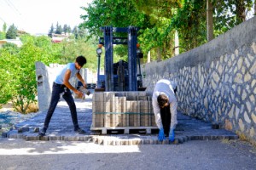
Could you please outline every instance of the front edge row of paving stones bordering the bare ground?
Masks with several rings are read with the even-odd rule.
[[[54,135],[38,137],[38,133],[24,134],[24,133],[3,133],[3,138],[9,139],[25,139],[26,141],[32,140],[58,140],[58,141],[84,141],[101,145],[139,145],[139,144],[183,144],[189,140],[218,140],[218,139],[238,139],[236,134],[222,134],[222,135],[177,135],[174,142],[163,140],[160,142],[157,135],[79,135],[73,136],[72,134]]]

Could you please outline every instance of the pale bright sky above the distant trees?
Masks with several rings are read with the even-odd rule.
[[[47,34],[57,22],[73,29],[83,22],[80,15],[92,0],[0,0],[0,31],[14,24],[18,30],[32,35]]]

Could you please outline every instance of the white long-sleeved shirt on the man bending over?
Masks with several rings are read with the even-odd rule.
[[[152,105],[154,109],[155,122],[157,127],[159,128],[163,127],[161,116],[160,116],[160,106],[158,105],[158,102],[157,102],[157,97],[160,94],[166,94],[166,96],[169,99],[170,111],[172,114],[171,128],[175,129],[177,125],[177,99],[174,94],[171,81],[166,79],[161,79],[160,81],[156,82],[154,87]]]

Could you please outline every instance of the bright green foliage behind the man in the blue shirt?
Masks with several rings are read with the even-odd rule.
[[[18,48],[6,43],[0,48],[0,105],[12,101],[17,111],[26,113],[28,105],[35,102],[37,82],[35,62],[67,64],[79,55],[87,59],[85,68],[96,71],[96,40],[85,42],[85,37],[52,43],[46,36],[22,35]]]

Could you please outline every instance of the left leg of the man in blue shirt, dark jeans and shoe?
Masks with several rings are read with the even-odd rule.
[[[49,122],[50,122],[51,116],[53,115],[53,113],[55,111],[56,105],[58,104],[59,99],[60,99],[60,94],[62,92],[63,92],[63,88],[58,87],[55,84],[53,84],[49,109],[47,111],[47,115],[44,120],[44,128],[43,128],[42,132],[39,132],[39,135],[41,135],[41,136],[45,135],[46,130],[49,127]]]

